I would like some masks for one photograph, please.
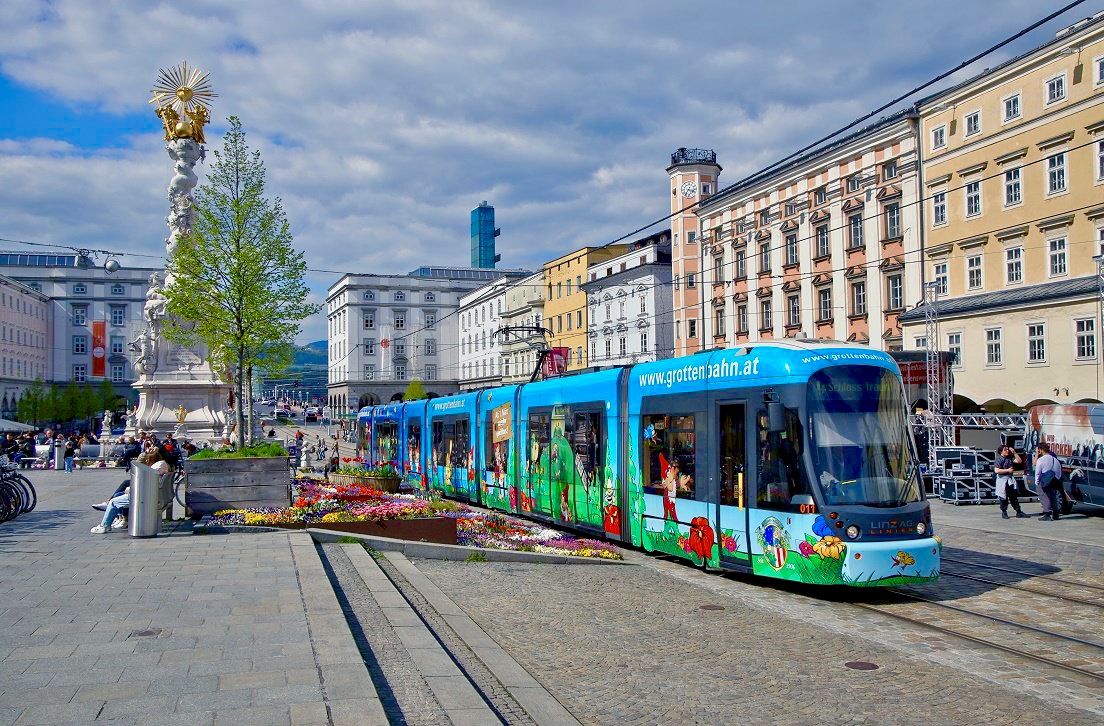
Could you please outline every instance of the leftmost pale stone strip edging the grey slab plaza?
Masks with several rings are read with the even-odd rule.
[[[326,575],[315,542],[298,532],[288,535],[291,557],[310,630],[310,648],[331,723],[388,724],[372,676],[349,630],[341,604]]]

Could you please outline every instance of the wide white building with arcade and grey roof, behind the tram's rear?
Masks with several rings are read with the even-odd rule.
[[[331,410],[397,401],[411,381],[456,393],[460,297],[502,270],[421,267],[408,275],[346,275],[326,298]]]

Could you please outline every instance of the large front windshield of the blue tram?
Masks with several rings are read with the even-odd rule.
[[[809,381],[809,417],[814,478],[825,503],[900,506],[920,499],[901,384],[892,373],[820,371]]]

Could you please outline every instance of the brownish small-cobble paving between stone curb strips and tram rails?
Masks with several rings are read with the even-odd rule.
[[[853,628],[892,628],[882,616],[644,562],[615,573],[416,564],[584,723],[1098,723],[856,637]],[[769,597],[751,604],[755,591]],[[806,607],[797,612],[795,604]],[[820,627],[843,609],[853,611],[850,632]],[[946,655],[938,643],[925,645],[926,633],[906,637],[917,651]],[[850,661],[880,668],[850,670]]]

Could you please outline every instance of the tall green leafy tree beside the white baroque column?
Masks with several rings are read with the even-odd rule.
[[[169,259],[171,316],[166,335],[206,344],[232,367],[238,448],[245,446],[248,370],[290,345],[300,322],[321,308],[307,302],[307,264],[293,246],[279,199],[265,196],[265,167],[237,117],[206,181],[195,193],[192,232]]]

